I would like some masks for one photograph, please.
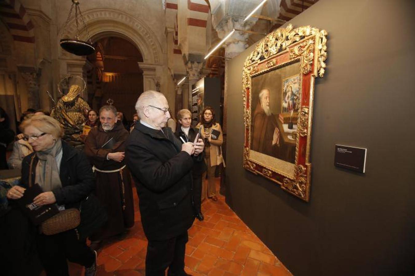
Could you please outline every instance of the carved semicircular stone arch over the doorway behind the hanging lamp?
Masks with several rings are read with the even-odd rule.
[[[85,24],[90,36],[97,38],[103,36],[120,36],[131,41],[141,51],[145,63],[161,63],[162,50],[154,32],[145,22],[125,12],[114,9],[100,8],[83,12]],[[75,19],[68,23],[66,34],[73,37],[76,33]],[[63,32],[63,26],[59,31],[59,39]],[[81,30],[80,39],[85,39],[87,34]],[[63,51],[62,56],[65,56]]]

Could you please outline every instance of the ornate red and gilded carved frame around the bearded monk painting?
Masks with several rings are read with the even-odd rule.
[[[293,28],[288,24],[268,34],[247,57],[244,63],[242,94],[244,98],[244,162],[243,167],[281,185],[281,188],[304,201],[310,197],[310,142],[312,125],[312,102],[315,77],[323,77],[327,31],[310,26]],[[252,77],[278,70],[300,62],[301,96],[298,108],[298,123],[294,164],[286,162],[265,162],[251,150]],[[292,142],[293,143],[293,142]]]

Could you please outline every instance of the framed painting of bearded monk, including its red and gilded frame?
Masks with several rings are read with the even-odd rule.
[[[310,198],[315,78],[327,58],[325,30],[288,24],[268,34],[243,69],[245,169]]]

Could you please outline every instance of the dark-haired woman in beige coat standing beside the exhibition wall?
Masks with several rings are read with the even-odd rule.
[[[217,165],[222,163],[221,145],[223,143],[222,128],[216,122],[215,111],[212,107],[206,106],[201,114],[202,122],[198,124],[201,128],[202,138],[205,142],[205,162],[207,172],[202,175],[202,201],[208,197],[213,201],[217,201],[217,192],[215,186],[215,169]],[[213,133],[212,133],[212,130]],[[215,133],[219,134],[215,135]],[[213,134],[213,135],[212,135]],[[205,177],[207,174],[207,185]]]

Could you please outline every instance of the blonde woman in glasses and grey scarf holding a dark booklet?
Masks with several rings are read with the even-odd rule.
[[[20,199],[36,183],[43,192],[34,197],[37,206],[56,204],[59,210],[79,208],[95,189],[91,165],[85,155],[61,140],[59,122],[46,115],[35,115],[21,126],[24,140],[34,153],[24,157],[20,186],[13,186],[7,198]],[[81,221],[82,223],[82,221]],[[86,240],[78,238],[76,229],[55,235],[36,236],[37,249],[46,275],[69,275],[67,260],[85,266],[85,275],[96,273],[96,252]]]

